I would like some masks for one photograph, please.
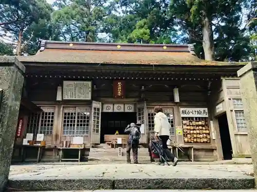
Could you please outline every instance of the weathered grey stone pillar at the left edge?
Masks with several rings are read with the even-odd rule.
[[[0,191],[6,187],[20,109],[25,67],[15,57],[0,57]]]

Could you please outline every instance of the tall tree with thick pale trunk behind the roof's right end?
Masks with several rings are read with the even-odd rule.
[[[240,22],[237,18],[243,15],[243,2],[243,0],[172,0],[170,8],[171,14],[177,16],[178,24],[189,32],[191,40],[201,41],[205,59],[214,60],[216,29],[231,22],[228,18],[232,16],[236,18],[238,30]]]

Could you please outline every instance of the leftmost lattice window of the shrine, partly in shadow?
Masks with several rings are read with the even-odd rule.
[[[56,107],[55,106],[44,106],[41,107],[41,109],[43,110],[43,112],[41,113],[32,113],[30,115],[30,117],[28,118],[28,122],[27,122],[27,129],[26,129],[26,133],[33,133],[34,136],[36,136],[36,134],[44,134],[45,136],[51,136],[53,134],[53,129],[54,129],[54,120],[55,120],[55,115],[56,115]],[[51,118],[53,120],[53,122],[51,123],[52,126],[47,126],[47,128],[49,130],[44,130],[43,132],[41,132],[41,125],[42,123],[45,123],[45,118],[42,118],[42,116],[44,117],[48,117],[45,116],[45,113],[53,113],[53,115],[51,115]],[[33,121],[36,121],[36,127],[33,127],[33,124],[31,125],[31,117],[35,117]],[[50,134],[47,134],[50,133]]]

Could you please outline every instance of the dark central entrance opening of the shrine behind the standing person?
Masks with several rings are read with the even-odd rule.
[[[116,131],[123,135],[126,126],[132,122],[137,122],[136,112],[102,112],[100,142],[104,143],[104,135],[114,135]]]

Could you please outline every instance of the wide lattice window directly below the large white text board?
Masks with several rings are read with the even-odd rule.
[[[70,126],[64,126],[64,122],[65,120],[67,121],[67,119],[65,119],[65,113],[75,113],[75,123],[74,123],[74,127],[72,127],[72,130],[70,129],[65,129],[65,127],[69,128]],[[86,123],[87,125],[85,126],[85,129],[79,129],[78,127],[78,121],[80,119],[78,119],[78,113],[86,113],[86,121],[88,121],[88,123]],[[90,107],[84,107],[84,106],[64,106],[63,108],[63,117],[62,117],[62,135],[63,136],[88,136],[89,132],[90,132],[90,115],[91,115],[91,109]],[[83,120],[83,119],[82,119]],[[66,122],[66,125],[68,123]],[[69,123],[70,124],[70,123]],[[72,124],[72,123],[71,123]],[[83,123],[82,123],[83,124]],[[74,133],[69,133],[69,132],[74,132]],[[84,132],[84,134],[80,134],[80,132]],[[68,134],[66,134],[68,133]]]

